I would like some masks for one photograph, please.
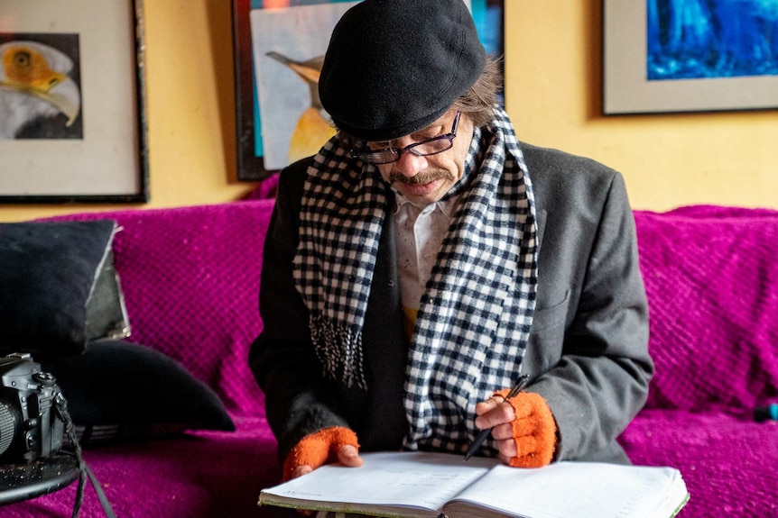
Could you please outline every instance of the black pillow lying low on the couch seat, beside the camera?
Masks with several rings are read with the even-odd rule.
[[[82,446],[186,430],[234,431],[218,395],[179,362],[128,341],[42,361],[68,401]]]

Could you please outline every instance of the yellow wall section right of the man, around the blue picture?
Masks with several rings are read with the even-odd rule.
[[[505,0],[519,138],[621,171],[635,208],[778,208],[778,111],[603,117],[601,0]]]

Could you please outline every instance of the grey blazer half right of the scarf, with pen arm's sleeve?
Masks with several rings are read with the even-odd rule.
[[[634,215],[613,169],[558,151],[526,155],[544,220],[525,370],[540,375],[529,390],[557,421],[555,459],[607,457],[653,375]]]

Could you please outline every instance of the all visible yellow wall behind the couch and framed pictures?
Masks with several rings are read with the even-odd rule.
[[[519,138],[620,170],[635,208],[778,208],[778,111],[600,115],[601,0],[505,0],[506,105]],[[144,0],[152,201],[235,200],[227,0]],[[126,205],[119,205],[126,206]],[[21,221],[117,205],[0,205]]]

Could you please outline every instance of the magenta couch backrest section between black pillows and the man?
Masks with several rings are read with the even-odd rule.
[[[120,210],[60,219],[113,219],[129,340],[179,361],[236,415],[264,415],[248,368],[262,330],[259,277],[273,200]]]

